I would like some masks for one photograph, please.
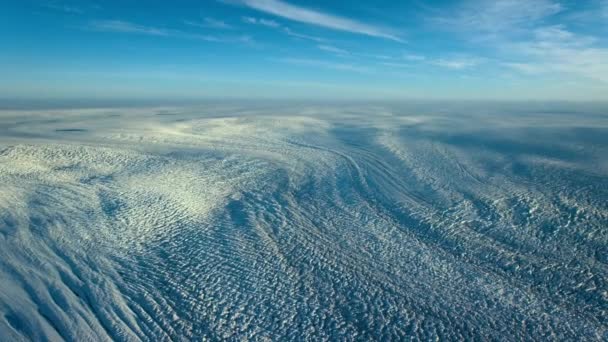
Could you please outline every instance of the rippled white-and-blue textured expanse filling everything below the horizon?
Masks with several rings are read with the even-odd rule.
[[[0,340],[606,340],[608,111],[0,114]]]

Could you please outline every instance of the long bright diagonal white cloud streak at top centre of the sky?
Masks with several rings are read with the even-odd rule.
[[[325,27],[329,29],[358,33],[372,37],[385,38],[401,42],[394,32],[375,25],[362,23],[320,11],[292,5],[280,0],[235,0],[247,7],[286,18],[293,21]]]

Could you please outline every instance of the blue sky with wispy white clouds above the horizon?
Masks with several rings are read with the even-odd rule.
[[[608,0],[0,6],[1,98],[608,98]]]

